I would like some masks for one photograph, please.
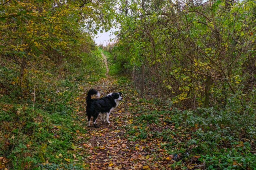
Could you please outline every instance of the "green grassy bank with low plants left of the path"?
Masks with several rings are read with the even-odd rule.
[[[79,59],[79,62],[64,63],[66,71],[61,77],[56,69],[45,72],[39,68],[35,72],[31,63],[22,91],[17,86],[18,66],[11,60],[1,63],[0,155],[8,160],[8,169],[82,167],[80,155],[77,155],[78,161],[72,163],[74,149],[82,142],[76,131],[87,133],[81,128],[83,125],[78,124],[77,113],[84,112],[84,108],[79,106],[77,97],[83,93],[82,86],[104,77],[106,69],[102,67],[99,50],[81,53]],[[52,63],[51,68],[54,67]],[[36,98],[33,108],[34,80]],[[52,164],[40,164],[46,160]]]

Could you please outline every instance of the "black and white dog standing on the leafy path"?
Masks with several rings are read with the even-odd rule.
[[[100,97],[100,93],[95,89],[90,89],[87,93],[86,113],[88,116],[88,126],[90,126],[91,116],[93,116],[94,127],[99,127],[96,124],[96,119],[99,115],[103,122],[105,122],[106,116],[106,121],[110,123],[109,115],[118,106],[119,101],[123,99],[121,97],[122,93],[110,93],[100,99],[91,99],[91,95],[97,95],[98,97]]]

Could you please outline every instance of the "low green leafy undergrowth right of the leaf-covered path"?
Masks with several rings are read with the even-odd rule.
[[[162,141],[157,152],[177,155],[170,168],[205,164],[207,169],[255,169],[253,101],[243,109],[241,104],[234,105],[235,97],[228,100],[222,108],[180,110],[161,100],[140,99],[139,104],[130,106],[134,117],[125,127],[126,136],[135,143]]]

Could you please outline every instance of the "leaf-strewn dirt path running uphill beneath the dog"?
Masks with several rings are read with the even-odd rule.
[[[108,62],[106,56],[102,52],[101,54],[106,64],[106,75],[108,75]],[[84,101],[87,91],[91,88],[97,89],[101,97],[111,92],[122,91],[113,77],[107,76],[107,78],[102,78],[95,84],[91,83],[89,86],[83,87],[84,93],[80,96],[83,108],[86,108]],[[88,127],[86,126],[86,114],[81,114],[81,124],[88,131],[85,137],[89,138],[89,142],[81,143],[80,148],[84,148],[88,152],[85,155],[84,162],[90,165],[90,169],[130,169],[133,165],[132,162],[127,161],[130,159],[129,152],[131,149],[129,147],[129,141],[124,136],[124,129],[122,128],[129,123],[129,121],[125,120],[131,119],[131,114],[127,111],[127,103],[130,102],[130,99],[125,98],[125,94],[123,97],[124,100],[120,102],[118,108],[110,114],[110,124],[106,122],[102,123],[98,118],[96,123],[100,125],[100,128],[94,128],[92,122],[91,126]]]

